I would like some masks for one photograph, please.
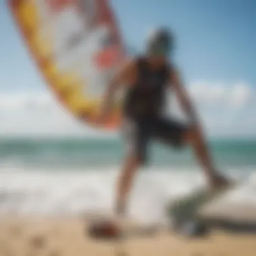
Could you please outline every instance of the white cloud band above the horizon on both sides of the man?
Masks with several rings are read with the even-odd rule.
[[[208,134],[256,135],[256,92],[249,84],[196,82],[189,85],[189,93]],[[104,133],[79,123],[51,94],[26,93],[0,94],[0,135]]]

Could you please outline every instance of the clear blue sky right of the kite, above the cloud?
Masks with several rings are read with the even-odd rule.
[[[175,59],[188,80],[247,79],[256,84],[256,2],[222,0],[113,0],[123,34],[142,48],[154,25],[177,35]]]

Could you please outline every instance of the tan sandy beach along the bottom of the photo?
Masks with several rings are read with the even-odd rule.
[[[94,241],[79,218],[14,218],[0,221],[1,256],[255,256],[255,234],[214,230],[207,238],[185,238],[160,230],[122,243]]]

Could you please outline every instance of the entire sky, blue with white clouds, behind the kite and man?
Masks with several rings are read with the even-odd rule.
[[[143,51],[150,28],[175,35],[172,60],[210,136],[256,137],[254,0],[112,0],[121,34]],[[47,90],[6,5],[0,2],[0,134],[98,135]]]

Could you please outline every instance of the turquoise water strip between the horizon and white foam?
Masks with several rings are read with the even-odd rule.
[[[209,142],[219,166],[256,166],[256,139],[215,139]],[[72,167],[113,166],[121,163],[125,147],[119,139],[0,139],[1,165]],[[191,148],[173,150],[153,144],[152,166],[197,166]]]

